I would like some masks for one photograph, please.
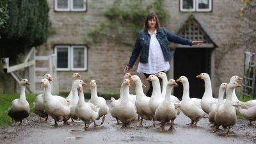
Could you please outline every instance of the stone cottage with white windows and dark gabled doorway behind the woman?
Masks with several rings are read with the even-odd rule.
[[[119,93],[124,67],[133,47],[115,41],[90,43],[88,33],[105,19],[104,11],[111,1],[103,0],[48,0],[52,28],[46,44],[36,47],[36,55],[57,55],[57,72],[60,92],[69,92],[71,76],[79,72],[86,83],[95,79],[99,93]],[[150,3],[147,2],[147,3]],[[166,29],[191,40],[203,40],[200,47],[170,44],[173,56],[168,79],[186,76],[190,83],[191,97],[201,98],[204,81],[196,76],[207,72],[211,76],[212,91],[218,94],[221,83],[228,83],[231,76],[243,76],[244,48],[232,48],[241,4],[230,0],[165,0],[164,10],[170,14]],[[141,24],[141,29],[143,24]],[[135,42],[136,38],[131,37]],[[138,74],[138,61],[131,74]],[[143,83],[145,77],[138,74]],[[90,92],[89,86],[84,88]],[[134,93],[134,84],[131,86]],[[147,88],[145,88],[147,91]],[[182,96],[182,84],[174,90]],[[239,91],[239,90],[238,90]]]

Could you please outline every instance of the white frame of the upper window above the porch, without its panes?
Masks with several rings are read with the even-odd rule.
[[[191,9],[184,9],[183,8],[183,0],[180,0],[180,11],[181,12],[211,12],[212,11],[212,0],[209,0],[209,8],[203,9],[198,8],[198,0],[193,0],[193,8]]]

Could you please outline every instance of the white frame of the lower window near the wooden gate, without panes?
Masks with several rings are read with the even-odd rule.
[[[67,68],[58,68],[57,71],[86,71],[87,70],[87,47],[86,45],[56,45],[54,47],[54,53],[58,59],[58,49],[67,47],[68,49],[68,67]],[[84,48],[84,67],[83,68],[74,68],[74,49],[76,48]],[[57,61],[58,63],[58,61]]]

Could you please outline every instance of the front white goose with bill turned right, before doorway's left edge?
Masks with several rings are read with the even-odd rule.
[[[170,97],[174,85],[177,85],[177,83],[175,82],[174,79],[170,79],[167,84],[168,87],[166,90],[164,100],[159,104],[159,106],[156,109],[155,119],[161,122],[162,131],[164,131],[164,125],[166,124],[166,122],[170,122],[170,120],[172,121],[172,123],[168,131],[175,130],[173,124],[178,114],[178,111],[177,109],[175,109],[175,106]]]

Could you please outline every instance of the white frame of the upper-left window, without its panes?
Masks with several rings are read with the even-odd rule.
[[[86,0],[84,2],[84,8],[74,8],[74,0],[67,0],[68,8],[58,8],[58,0],[54,0],[54,10],[56,12],[86,12]]]

